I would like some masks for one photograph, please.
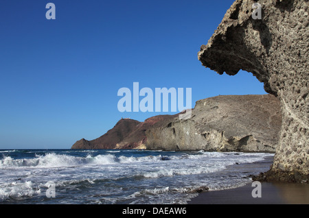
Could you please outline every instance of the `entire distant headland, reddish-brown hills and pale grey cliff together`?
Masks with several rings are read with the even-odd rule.
[[[72,149],[275,152],[280,126],[279,101],[272,95],[218,96],[197,101],[190,119],[121,119],[103,136],[82,138]]]

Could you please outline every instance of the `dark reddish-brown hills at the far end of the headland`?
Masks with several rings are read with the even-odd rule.
[[[146,130],[165,125],[177,115],[159,115],[144,122],[133,119],[120,119],[106,134],[92,141],[82,138],[71,149],[145,149]]]

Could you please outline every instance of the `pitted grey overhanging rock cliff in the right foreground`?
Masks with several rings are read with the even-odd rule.
[[[255,2],[262,19],[251,16]],[[268,172],[275,180],[309,178],[308,6],[308,0],[237,0],[198,52],[203,66],[219,74],[253,73],[281,102],[279,146]]]

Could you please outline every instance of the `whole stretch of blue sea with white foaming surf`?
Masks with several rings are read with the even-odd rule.
[[[0,204],[187,204],[232,189],[273,154],[146,150],[0,150]]]

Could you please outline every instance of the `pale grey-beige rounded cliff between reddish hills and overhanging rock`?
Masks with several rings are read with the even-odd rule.
[[[147,149],[275,152],[281,126],[272,95],[227,95],[196,102],[192,117],[146,131]]]

